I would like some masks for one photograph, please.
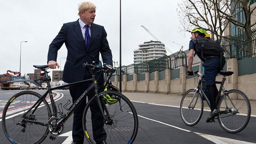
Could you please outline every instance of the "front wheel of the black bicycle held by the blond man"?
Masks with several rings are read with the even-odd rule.
[[[107,104],[103,99],[104,95],[118,101]],[[89,100],[83,113],[83,129],[88,142],[97,143],[105,140],[107,143],[132,143],[138,131],[138,116],[131,101],[114,91],[102,92],[99,98],[108,121],[103,118],[97,97]]]

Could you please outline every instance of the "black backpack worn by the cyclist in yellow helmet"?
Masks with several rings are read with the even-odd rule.
[[[201,53],[204,60],[210,57],[220,58],[220,65],[222,57],[224,55],[224,49],[218,43],[218,41],[213,41],[205,38],[195,38],[193,40],[195,44],[196,53]]]

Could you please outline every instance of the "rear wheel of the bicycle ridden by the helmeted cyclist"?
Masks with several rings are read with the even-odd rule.
[[[231,97],[235,99],[231,99]],[[240,90],[229,90],[226,94],[226,102],[224,96],[222,96],[218,102],[217,109],[221,111],[218,114],[218,121],[227,132],[237,133],[242,131],[250,120],[250,102]]]

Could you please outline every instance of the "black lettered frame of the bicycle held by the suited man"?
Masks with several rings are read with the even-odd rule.
[[[50,95],[50,101],[51,101],[51,105],[52,105],[52,110],[53,110],[53,114],[51,114],[51,118],[48,120],[50,121],[52,118],[57,118],[57,108],[56,108],[56,105],[55,105],[55,101],[53,99],[53,96],[52,96],[52,90],[55,90],[55,89],[60,89],[60,88],[64,88],[64,87],[69,87],[69,86],[74,86],[74,85],[78,85],[78,84],[82,84],[84,82],[92,82],[92,84],[84,91],[84,93],[76,100],[76,102],[74,102],[70,108],[68,109],[68,112],[66,114],[64,114],[64,118],[62,117],[60,120],[57,121],[56,123],[56,126],[58,127],[61,123],[65,123],[67,121],[67,119],[73,114],[74,110],[77,108],[77,106],[79,104],[81,104],[81,102],[86,98],[84,97],[85,95],[87,96],[88,93],[90,93],[90,91],[92,89],[95,89],[95,96],[97,98],[97,103],[98,103],[98,106],[99,106],[99,109],[101,111],[101,114],[103,116],[103,118],[106,120],[107,118],[105,117],[104,115],[104,110],[106,111],[106,114],[109,115],[108,113],[108,110],[104,107],[104,110],[102,108],[102,105],[101,105],[101,102],[100,102],[100,98],[99,98],[99,95],[98,95],[98,83],[97,81],[95,80],[95,75],[94,73],[91,71],[91,74],[92,74],[92,78],[90,79],[87,79],[87,80],[83,80],[83,81],[79,81],[79,82],[74,82],[74,83],[70,83],[70,84],[66,84],[66,85],[63,85],[63,86],[57,86],[57,87],[54,87],[54,88],[51,88],[50,87],[50,78],[48,77],[48,74],[47,74],[47,71],[44,71],[45,72],[45,75],[46,75],[46,79],[47,79],[47,85],[48,85],[48,89],[47,91],[36,101],[36,103],[28,110],[24,113],[23,115],[23,119],[25,121],[28,121],[28,122],[33,122],[35,124],[40,124],[40,125],[43,125],[43,126],[48,126],[49,124],[46,124],[46,123],[43,123],[43,122],[39,122],[39,121],[33,121],[33,120],[28,120],[28,119],[25,119],[25,115],[28,114],[32,109],[34,109],[32,111],[31,114],[33,114],[35,112],[35,110],[38,108],[38,106],[42,103],[42,99],[45,99],[47,94],[49,93]],[[112,74],[110,75],[110,77],[112,76]],[[110,79],[109,77],[109,79]],[[109,80],[108,79],[108,80]],[[107,85],[108,82],[106,82],[106,84],[104,86]]]

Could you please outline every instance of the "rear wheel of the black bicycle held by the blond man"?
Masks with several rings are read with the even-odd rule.
[[[25,111],[31,108],[31,106],[33,106],[33,104],[40,97],[41,95],[39,93],[26,90],[15,94],[8,100],[3,110],[2,126],[4,134],[11,143],[37,144],[44,141],[44,139],[47,137],[49,133],[48,126],[41,126],[30,122],[24,122],[23,124],[25,125],[25,127],[15,124],[23,118],[23,114],[25,113]],[[35,110],[35,113],[31,115],[31,113],[29,112],[27,115],[29,115],[28,118],[31,120],[40,120],[40,122],[48,123],[50,114],[51,109],[49,104],[45,99],[42,99],[42,103]],[[41,121],[42,119],[43,121]],[[23,129],[24,132],[22,131]],[[38,132],[42,132],[43,134],[39,134]]]

